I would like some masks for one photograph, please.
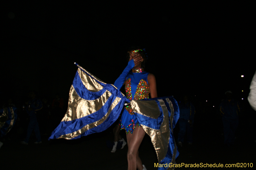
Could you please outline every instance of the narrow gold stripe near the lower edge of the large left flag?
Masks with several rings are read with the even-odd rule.
[[[116,97],[114,102],[109,107],[108,112],[106,113],[106,115],[104,115],[104,117],[102,117],[99,121],[96,121],[96,122],[93,122],[91,124],[88,124],[88,125],[84,126],[83,128],[73,132],[73,133],[69,133],[69,134],[66,134],[66,135],[61,135],[60,137],[58,137],[58,139],[59,138],[72,139],[74,137],[77,137],[77,136],[81,135],[86,130],[89,130],[89,129],[92,129],[92,128],[96,127],[96,126],[99,126],[102,122],[104,122],[108,118],[109,114],[116,107],[116,105],[119,103],[120,100],[121,100],[121,98]]]

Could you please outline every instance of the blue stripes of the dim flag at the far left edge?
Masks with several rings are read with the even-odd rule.
[[[14,112],[14,121],[13,121],[13,125],[12,125],[12,127],[13,127],[17,120],[18,115],[17,115],[17,107],[12,107],[12,109]],[[0,110],[0,116],[3,114],[3,111],[4,111],[4,109]],[[1,137],[6,135],[7,129],[10,127],[10,123],[12,121],[12,113],[11,113],[10,107],[7,107],[7,111],[8,111],[7,120],[5,121],[4,125],[0,129]]]

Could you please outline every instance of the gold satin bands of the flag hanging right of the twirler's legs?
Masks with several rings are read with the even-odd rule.
[[[169,127],[168,109],[164,104],[164,100],[159,99],[158,101],[160,102],[160,106],[162,107],[163,114],[164,114],[163,115],[164,119],[160,126],[160,129],[152,129],[142,124],[141,124],[141,127],[151,138],[151,142],[156,150],[158,162],[160,163],[161,160],[164,159],[167,153],[169,139],[170,139],[170,127]],[[153,119],[157,119],[160,115],[160,110],[155,100],[148,100],[148,101],[132,100],[131,106],[134,112],[153,118]]]

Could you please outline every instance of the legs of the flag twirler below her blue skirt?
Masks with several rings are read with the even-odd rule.
[[[136,170],[136,168],[139,170],[143,169],[138,150],[145,134],[146,132],[138,126],[133,130],[132,134],[126,134],[128,143],[128,170]]]

